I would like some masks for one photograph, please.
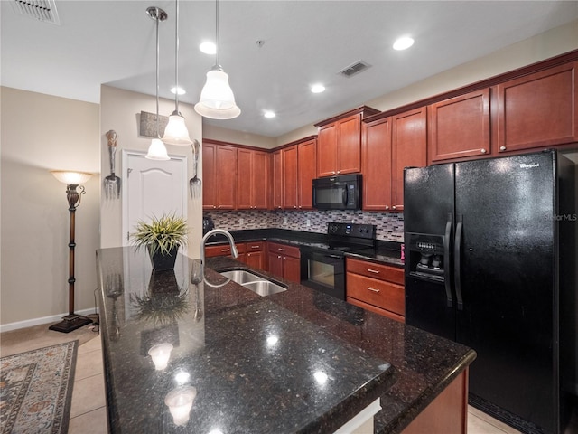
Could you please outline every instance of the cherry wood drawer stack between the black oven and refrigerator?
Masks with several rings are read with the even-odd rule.
[[[346,271],[348,303],[405,322],[403,269],[347,258]]]

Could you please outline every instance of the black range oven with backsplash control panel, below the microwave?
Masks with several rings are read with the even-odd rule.
[[[345,300],[345,253],[375,248],[376,226],[331,222],[327,237],[327,245],[300,248],[301,284]]]

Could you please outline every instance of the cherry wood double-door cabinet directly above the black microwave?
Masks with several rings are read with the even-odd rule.
[[[317,134],[317,175],[345,175],[361,172],[361,120],[378,110],[360,107],[339,117],[315,124]]]

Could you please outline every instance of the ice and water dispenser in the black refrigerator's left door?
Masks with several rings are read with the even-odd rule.
[[[449,259],[446,258],[449,251],[444,249],[443,235],[407,232],[406,237],[409,275],[443,283],[445,262]]]

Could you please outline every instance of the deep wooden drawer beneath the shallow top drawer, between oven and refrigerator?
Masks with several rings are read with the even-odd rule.
[[[346,288],[347,297],[356,298],[400,316],[406,315],[406,296],[401,285],[347,273]]]

